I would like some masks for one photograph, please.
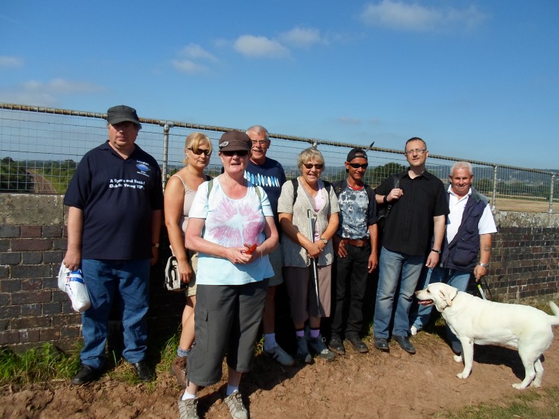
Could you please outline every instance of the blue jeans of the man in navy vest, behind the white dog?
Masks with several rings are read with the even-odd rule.
[[[458,288],[458,291],[466,291],[467,284],[470,282],[470,272],[464,272],[456,269],[444,269],[442,267],[434,267],[427,269],[425,274],[422,276],[423,284],[418,287],[420,290],[427,288],[429,284],[435,282],[444,282],[449,284],[454,288]],[[420,282],[421,284],[421,282]],[[422,306],[417,304],[417,310],[412,309],[412,313],[409,316],[409,323],[414,325],[417,330],[423,329],[423,327],[429,322],[431,317],[431,312],[433,311],[433,306]],[[415,306],[415,304],[414,304]],[[452,346],[452,350],[456,353],[462,351],[462,345],[458,338],[451,332],[450,328],[447,326],[447,339]]]

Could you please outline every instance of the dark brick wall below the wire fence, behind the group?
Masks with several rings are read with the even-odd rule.
[[[559,215],[498,212],[495,219],[499,233],[487,277],[495,300],[557,300]],[[80,314],[57,288],[65,223],[61,196],[0,194],[0,346],[23,351],[52,341],[69,349],[79,341]],[[167,257],[163,228],[161,263],[150,278],[152,336],[172,335],[184,308],[184,295],[163,289]]]

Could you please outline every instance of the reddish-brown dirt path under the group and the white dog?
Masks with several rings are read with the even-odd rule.
[[[559,385],[559,338],[546,351],[543,388],[522,391],[545,394]],[[250,417],[284,418],[428,418],[438,411],[481,402],[499,404],[520,394],[511,383],[521,381],[524,370],[518,353],[496,346],[476,346],[470,378],[460,380],[461,365],[437,335],[419,333],[412,338],[416,355],[408,355],[391,342],[381,353],[369,340],[370,353],[351,349],[333,362],[283,368],[263,356],[241,383]],[[201,418],[230,418],[219,390],[224,381],[201,391]],[[168,372],[157,382],[129,385],[104,376],[89,386],[66,382],[34,385],[27,389],[1,389],[0,418],[41,419],[164,419],[178,418],[180,393]]]

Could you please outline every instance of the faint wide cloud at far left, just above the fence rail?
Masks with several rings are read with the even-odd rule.
[[[0,101],[53,106],[62,95],[94,94],[105,91],[104,87],[89,82],[53,79],[48,82],[29,80],[15,87],[0,90]]]

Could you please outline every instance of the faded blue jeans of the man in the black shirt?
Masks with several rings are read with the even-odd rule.
[[[379,286],[375,304],[375,337],[389,337],[394,300],[393,336],[405,336],[409,330],[409,307],[421,274],[425,256],[412,256],[382,247],[379,259]],[[399,287],[398,287],[399,285]],[[396,291],[399,290],[398,295]]]

